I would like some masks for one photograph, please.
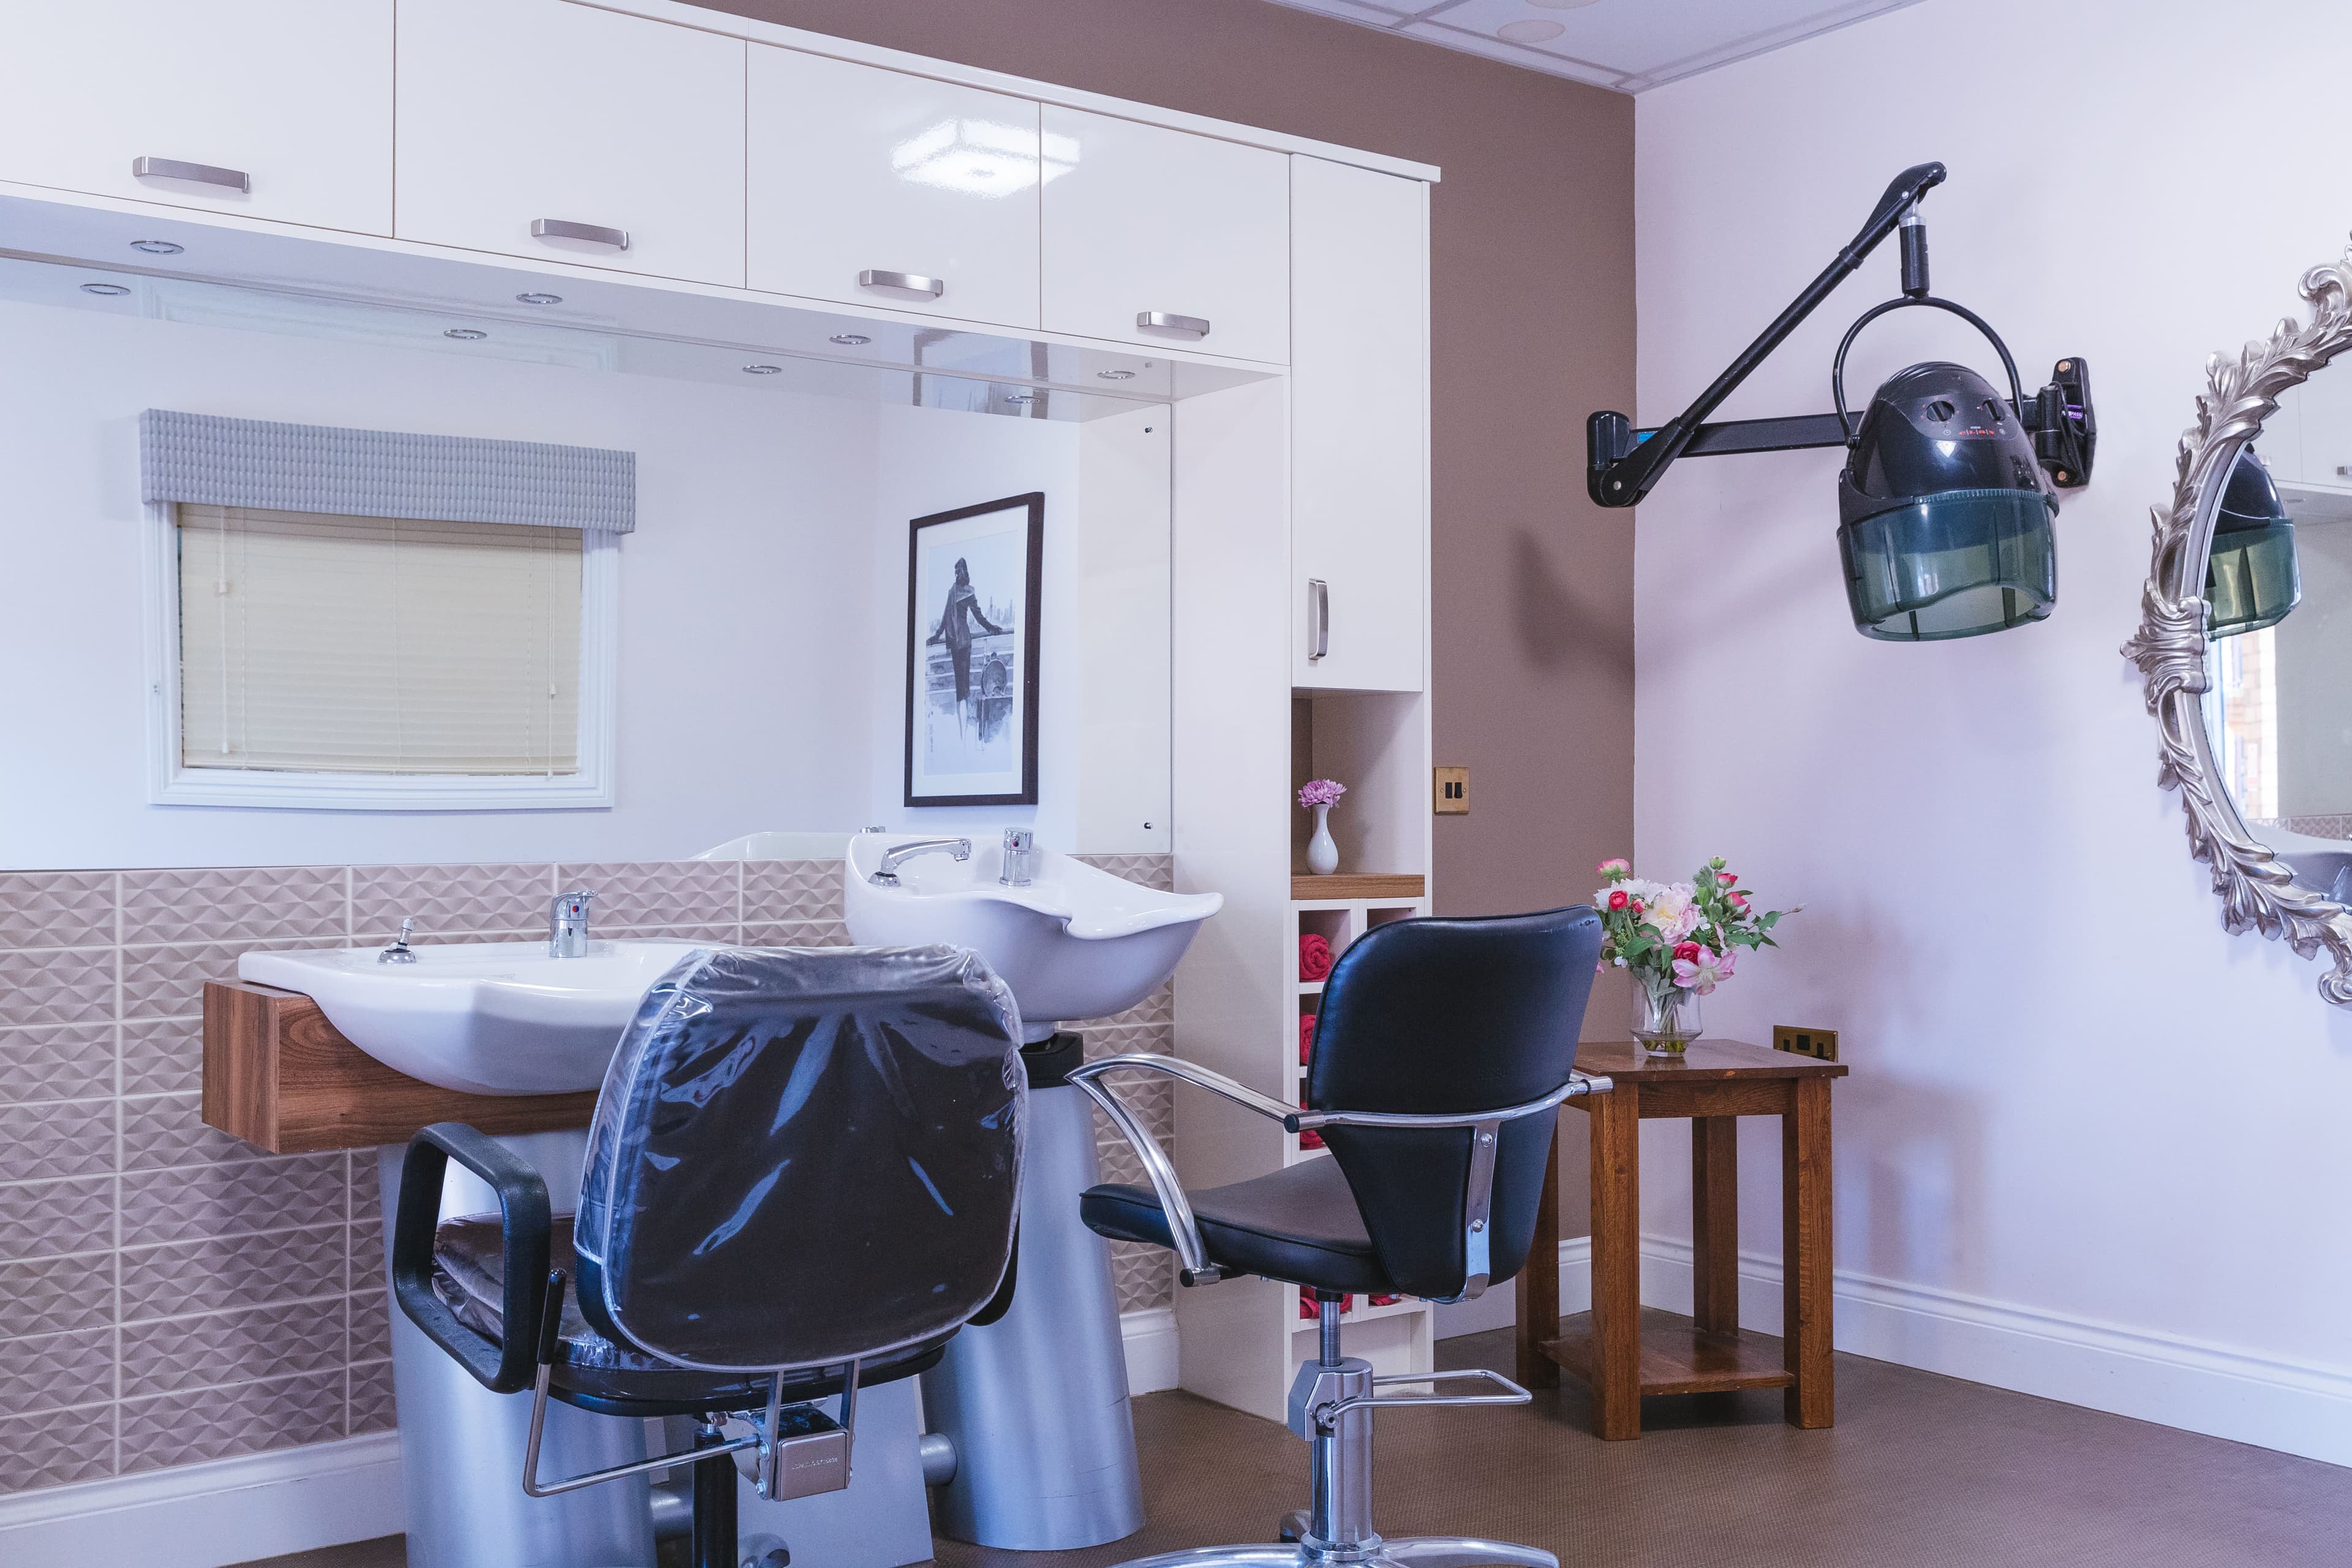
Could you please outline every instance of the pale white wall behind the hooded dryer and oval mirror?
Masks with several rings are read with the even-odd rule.
[[[2340,21],[1926,0],[1639,99],[1642,423],[1940,158],[1938,294],[2009,336],[2027,388],[2086,355],[2100,451],[2058,520],[2053,618],[1931,646],[1851,630],[1837,454],[1675,468],[1635,524],[1635,839],[1644,875],[1726,853],[1806,905],[1708,1025],[1844,1032],[1842,1345],[2352,1462],[2352,1013],[2223,931],[2117,654],[2206,355],[2296,310],[2352,228],[2319,63]],[[1825,409],[1837,336],[1893,292],[1889,244],[1724,416]],[[1870,329],[1856,397],[1922,357],[1997,369],[1926,315]],[[1644,1126],[1665,1246],[1689,1237],[1684,1138]],[[1743,1159],[1769,1269],[1769,1124]]]

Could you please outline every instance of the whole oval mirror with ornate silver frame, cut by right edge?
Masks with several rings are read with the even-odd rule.
[[[2206,364],[2124,654],[2223,919],[2352,1006],[2352,261],[2300,292],[2310,322]]]

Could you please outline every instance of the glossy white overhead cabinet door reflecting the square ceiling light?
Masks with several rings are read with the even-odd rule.
[[[748,80],[750,287],[1037,324],[1037,103],[771,45]]]

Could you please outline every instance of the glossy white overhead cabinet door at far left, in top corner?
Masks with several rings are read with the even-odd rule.
[[[0,179],[388,235],[393,0],[9,5]]]

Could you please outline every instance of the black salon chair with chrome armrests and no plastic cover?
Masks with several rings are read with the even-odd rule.
[[[1291,1385],[1291,1432],[1315,1446],[1312,1507],[1284,1521],[1289,1547],[1200,1547],[1127,1568],[1289,1568],[1324,1563],[1526,1563],[1536,1547],[1371,1528],[1371,1415],[1383,1406],[1526,1403],[1501,1373],[1376,1378],[1341,1354],[1350,1293],[1470,1300],[1526,1262],[1559,1103],[1604,1093],[1576,1072],[1602,922],[1588,907],[1496,919],[1404,919],[1357,938],[1324,980],[1305,1105],[1284,1105],[1169,1056],[1112,1056],[1070,1074],[1120,1128],[1148,1187],[1080,1199],[1115,1241],[1174,1248],[1188,1286],[1261,1274],[1315,1293],[1322,1354]],[[1287,1131],[1319,1131],[1331,1159],[1185,1192],[1176,1168],[1101,1081],[1160,1072]],[[1432,1385],[1482,1380],[1482,1394]],[[1381,1392],[1390,1387],[1430,1392]]]

